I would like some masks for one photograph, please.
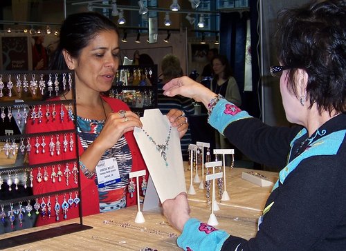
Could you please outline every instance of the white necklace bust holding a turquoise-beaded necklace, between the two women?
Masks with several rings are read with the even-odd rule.
[[[158,109],[144,111],[134,137],[161,202],[186,192],[179,132]]]

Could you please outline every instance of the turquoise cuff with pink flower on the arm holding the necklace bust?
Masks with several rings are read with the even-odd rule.
[[[183,232],[176,243],[187,251],[214,251],[221,250],[228,237],[230,235],[227,232],[191,218],[185,223]]]

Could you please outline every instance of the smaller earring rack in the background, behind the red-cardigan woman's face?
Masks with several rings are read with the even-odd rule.
[[[157,108],[157,65],[119,66],[110,97],[121,99],[133,112]]]

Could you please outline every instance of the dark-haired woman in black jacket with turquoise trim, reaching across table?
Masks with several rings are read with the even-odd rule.
[[[280,92],[293,127],[251,117],[188,77],[165,94],[202,101],[209,123],[258,163],[283,167],[266,201],[259,230],[247,240],[190,218],[186,194],[163,202],[182,231],[183,250],[345,250],[346,248],[346,6],[313,1],[278,13]]]

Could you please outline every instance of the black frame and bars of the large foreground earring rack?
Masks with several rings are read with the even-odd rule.
[[[60,101],[42,101],[42,99],[37,99],[37,100],[33,100],[32,97],[26,97],[24,100],[24,102],[20,102],[17,103],[14,99],[14,97],[16,97],[16,94],[13,95],[14,97],[11,97],[12,95],[10,95],[10,99],[7,99],[6,94],[3,94],[3,90],[6,90],[6,81],[3,81],[3,87],[1,88],[1,94],[2,97],[0,97],[0,108],[2,107],[10,107],[11,110],[12,108],[16,108],[16,106],[27,106],[28,107],[28,114],[30,114],[30,109],[32,108],[32,106],[37,106],[37,105],[51,105],[51,104],[66,104],[69,103],[73,106],[73,117],[75,118],[75,114],[77,114],[76,112],[76,94],[75,94],[75,74],[73,70],[39,70],[39,71],[35,71],[35,70],[31,70],[31,71],[24,71],[24,70],[20,70],[20,71],[15,71],[15,70],[11,70],[11,71],[0,71],[0,76],[1,78],[3,78],[4,76],[9,76],[12,78],[13,77],[13,89],[16,88],[15,86],[15,82],[16,82],[16,78],[15,76],[20,76],[23,74],[26,74],[28,76],[28,83],[30,83],[30,77],[32,76],[37,76],[37,79],[39,79],[39,77],[42,76],[42,74],[48,79],[48,75],[54,75],[54,74],[70,74],[71,79],[72,79],[72,83],[71,83],[71,87],[72,87],[72,91],[73,91],[73,99],[69,99],[69,100],[60,100]],[[66,76],[66,75],[65,75]],[[20,78],[20,77],[19,77]],[[8,77],[9,79],[9,77]],[[45,85],[47,85],[47,79],[45,79]],[[8,80],[9,81],[9,80]],[[12,80],[11,80],[12,81]],[[59,81],[61,81],[61,79],[59,79]],[[38,81],[37,81],[38,82]],[[10,89],[12,89],[10,88]],[[28,92],[30,92],[30,84],[28,84],[27,86],[28,88]],[[37,94],[39,93],[39,87],[38,85],[35,87],[37,90]],[[46,88],[46,86],[45,86]],[[53,86],[54,88],[54,86]],[[26,91],[26,92],[27,92]],[[11,92],[11,90],[9,91],[9,93]],[[20,90],[20,92],[23,92],[23,90]],[[51,95],[51,97],[56,97],[55,95],[55,91],[53,90],[53,94]],[[19,95],[18,99],[22,99],[21,95]],[[68,116],[68,115],[67,115]],[[15,117],[12,117],[12,119],[16,119]],[[30,119],[28,117],[28,122]],[[1,119],[0,119],[0,124],[2,123]],[[19,198],[15,198],[15,199],[7,199],[5,200],[1,200],[0,204],[2,206],[5,205],[10,205],[11,203],[19,203],[21,201],[32,201],[35,199],[39,199],[39,198],[44,198],[44,197],[50,197],[51,195],[60,195],[60,194],[66,194],[69,192],[78,192],[79,194],[79,199],[80,202],[78,203],[78,213],[79,213],[79,217],[80,217],[80,223],[72,223],[72,224],[65,224],[65,225],[61,225],[59,227],[52,227],[52,228],[48,228],[46,230],[36,230],[33,232],[29,232],[28,234],[20,234],[20,235],[16,235],[14,237],[8,237],[5,239],[0,239],[0,247],[1,249],[3,248],[12,248],[15,247],[17,245],[24,245],[26,243],[31,243],[33,241],[41,241],[44,239],[50,239],[53,237],[57,237],[57,236],[61,236],[64,234],[70,234],[73,232],[79,232],[82,230],[87,230],[90,229],[92,227],[88,226],[88,225],[83,225],[83,219],[82,219],[82,193],[81,193],[81,185],[80,185],[80,165],[79,165],[79,161],[78,161],[78,156],[79,156],[79,152],[78,152],[78,137],[77,137],[77,123],[75,121],[75,119],[73,119],[73,124],[74,124],[74,128],[71,130],[59,130],[57,132],[42,132],[42,133],[32,133],[32,134],[26,134],[26,133],[21,133],[21,134],[14,134],[14,135],[6,135],[6,136],[0,136],[0,141],[6,141],[8,139],[10,140],[20,140],[20,139],[28,139],[29,137],[42,137],[42,136],[46,136],[49,134],[65,134],[65,133],[73,133],[74,134],[74,146],[73,146],[73,151],[75,153],[76,158],[75,159],[64,159],[62,161],[51,161],[48,163],[39,163],[39,164],[34,164],[34,165],[30,165],[28,163],[23,163],[22,165],[16,165],[15,164],[10,164],[10,165],[1,165],[0,168],[0,174],[2,172],[12,172],[12,171],[16,171],[17,170],[27,170],[28,168],[39,168],[40,166],[45,166],[45,165],[56,165],[56,164],[66,164],[66,163],[71,163],[71,162],[75,162],[78,168],[78,172],[77,172],[77,178],[78,178],[78,186],[75,188],[67,188],[65,190],[59,190],[59,191],[54,191],[54,192],[47,192],[44,194],[35,194],[35,195],[30,195],[30,196],[25,196],[25,197],[19,197]],[[46,144],[48,145],[48,143]],[[19,150],[17,150],[17,155],[20,154]],[[28,154],[28,152],[26,152],[25,150],[25,154]],[[31,152],[30,154],[33,154],[33,152]],[[1,185],[1,184],[0,184]],[[59,221],[64,222],[64,220],[60,220]],[[2,224],[0,222],[0,224]],[[33,228],[35,228],[35,226],[33,226]],[[20,232],[20,230],[15,230]],[[0,234],[1,237],[1,234]]]

